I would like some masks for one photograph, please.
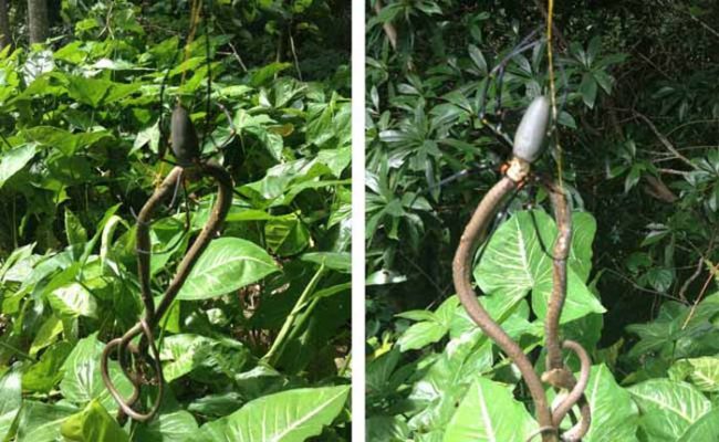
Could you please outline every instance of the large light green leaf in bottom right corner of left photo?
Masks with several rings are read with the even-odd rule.
[[[302,388],[256,399],[227,418],[205,424],[187,442],[301,442],[340,414],[348,386]]]

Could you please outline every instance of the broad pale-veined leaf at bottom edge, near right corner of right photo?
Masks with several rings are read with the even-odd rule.
[[[676,441],[711,410],[709,399],[686,382],[650,379],[628,390],[642,413],[639,425],[653,441]]]

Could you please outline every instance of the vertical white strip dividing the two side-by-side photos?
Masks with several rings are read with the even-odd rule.
[[[365,1],[352,2],[352,440],[365,440]]]

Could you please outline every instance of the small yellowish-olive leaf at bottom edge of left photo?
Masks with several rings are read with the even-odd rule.
[[[127,433],[97,400],[91,401],[83,411],[67,418],[60,427],[60,433],[75,442],[129,441]]]

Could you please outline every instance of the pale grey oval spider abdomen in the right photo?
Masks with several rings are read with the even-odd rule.
[[[550,119],[550,101],[540,95],[527,108],[514,134],[513,155],[532,162],[539,157]]]

